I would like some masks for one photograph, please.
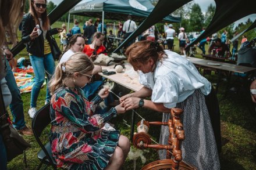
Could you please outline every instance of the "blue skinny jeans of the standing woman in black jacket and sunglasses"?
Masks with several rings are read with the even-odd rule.
[[[35,75],[35,84],[33,85],[33,88],[31,90],[30,107],[37,107],[37,98],[42,87],[42,84],[45,81],[45,70],[47,70],[49,74],[53,75],[55,70],[55,63],[54,57],[52,57],[52,53],[49,53],[41,57],[33,55],[29,57]],[[49,77],[47,76],[47,82],[48,81]],[[51,97],[52,96],[50,95],[47,83],[46,101],[49,102],[51,100]]]

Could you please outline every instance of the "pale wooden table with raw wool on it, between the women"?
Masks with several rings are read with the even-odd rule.
[[[115,71],[115,66],[116,63],[111,62],[109,66],[101,66],[102,70],[108,70],[108,71]],[[116,82],[117,84],[120,84],[122,86],[125,86],[126,88],[130,89],[131,91],[137,92],[141,88],[143,88],[143,85],[141,84],[131,84],[130,82],[127,82],[127,77],[124,76],[123,74],[125,73],[126,69],[133,68],[129,63],[125,62],[125,69],[123,70],[122,73],[116,73],[112,75],[105,75],[103,73],[98,73],[102,77],[108,78],[113,82]],[[134,111],[131,112],[131,131],[130,131],[130,140],[133,140],[133,133],[134,133],[134,125],[135,125],[135,119],[136,119],[136,113]]]

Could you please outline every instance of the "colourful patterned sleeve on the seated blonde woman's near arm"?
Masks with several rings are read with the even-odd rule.
[[[52,103],[52,107],[54,110],[65,115],[65,117],[67,117],[71,122],[80,128],[83,128],[87,132],[98,131],[104,126],[106,121],[110,120],[117,114],[116,109],[111,108],[111,110],[105,114],[95,114],[90,116],[86,111],[91,109],[91,107],[94,106],[94,103],[84,103],[83,100],[80,99],[80,97],[66,92],[65,94],[55,99],[55,102]],[[90,108],[88,108],[88,106],[90,106]]]

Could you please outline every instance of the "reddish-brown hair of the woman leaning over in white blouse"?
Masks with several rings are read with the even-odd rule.
[[[138,41],[131,44],[126,49],[127,60],[131,65],[135,63],[145,63],[152,58],[154,63],[162,61],[166,54],[163,47],[158,42],[152,41]]]

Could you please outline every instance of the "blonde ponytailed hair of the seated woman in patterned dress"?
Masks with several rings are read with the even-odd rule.
[[[72,77],[74,73],[87,74],[92,71],[94,64],[84,53],[74,53],[66,62],[59,63],[55,68],[55,73],[49,81],[49,91],[53,94],[56,89],[63,86],[66,78]]]

